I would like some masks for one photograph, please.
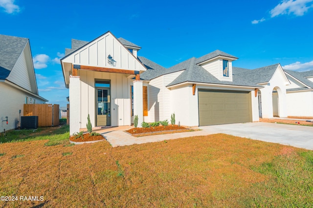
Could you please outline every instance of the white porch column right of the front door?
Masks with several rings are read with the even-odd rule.
[[[143,122],[142,81],[134,81],[134,116],[138,116],[138,127]]]

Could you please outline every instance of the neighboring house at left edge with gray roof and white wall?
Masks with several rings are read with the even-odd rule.
[[[0,35],[0,97],[0,132],[19,126],[23,104],[47,102],[38,94],[28,38]]]

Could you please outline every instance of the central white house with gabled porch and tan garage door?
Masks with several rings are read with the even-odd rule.
[[[72,39],[61,59],[69,88],[70,134],[93,126],[170,119],[184,126],[259,121],[258,89],[233,75],[237,57],[214,51],[169,69],[137,57],[141,47],[111,32],[90,41]],[[134,79],[135,78],[135,79]]]

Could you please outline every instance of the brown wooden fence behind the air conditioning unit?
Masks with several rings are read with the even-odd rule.
[[[37,115],[38,126],[58,126],[59,123],[58,104],[24,104],[24,116]]]

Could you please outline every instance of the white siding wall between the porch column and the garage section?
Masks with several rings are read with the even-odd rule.
[[[152,79],[148,85],[148,118],[146,122],[168,119],[170,121],[172,109],[171,91],[166,88],[183,71],[163,75]]]

